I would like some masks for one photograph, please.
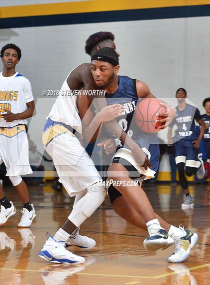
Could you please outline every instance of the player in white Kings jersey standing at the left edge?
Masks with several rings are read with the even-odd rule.
[[[6,176],[9,176],[23,202],[18,227],[27,227],[36,215],[29,202],[27,186],[21,178],[21,175],[32,173],[24,125],[27,124],[26,119],[33,116],[35,106],[30,82],[15,72],[21,58],[20,49],[7,44],[2,47],[0,57],[3,64],[3,72],[0,73],[0,164],[4,162]],[[1,185],[0,204],[0,225],[3,225],[16,209],[6,198]]]

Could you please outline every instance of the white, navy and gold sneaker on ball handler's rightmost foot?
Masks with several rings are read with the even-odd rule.
[[[188,257],[190,249],[197,242],[198,235],[195,232],[184,228],[182,230],[185,232],[185,235],[175,239],[175,251],[168,257],[168,262],[183,262]]]

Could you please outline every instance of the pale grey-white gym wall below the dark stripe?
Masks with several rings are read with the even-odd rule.
[[[98,31],[115,35],[120,75],[146,82],[157,97],[171,98],[183,87],[203,113],[202,100],[210,96],[210,17],[5,29],[0,30],[0,47],[12,42],[21,48],[16,70],[30,80],[34,97],[41,98],[42,89],[59,89],[71,69],[89,61],[84,43]],[[44,99],[47,109],[52,101]],[[36,131],[30,132],[39,150],[48,112],[41,107],[36,106],[32,119]]]

